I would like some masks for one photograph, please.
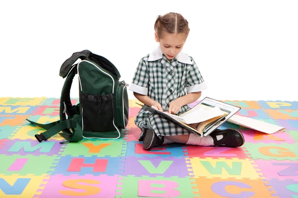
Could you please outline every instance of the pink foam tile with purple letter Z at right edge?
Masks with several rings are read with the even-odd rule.
[[[255,160],[266,179],[294,179],[298,181],[298,161]]]

